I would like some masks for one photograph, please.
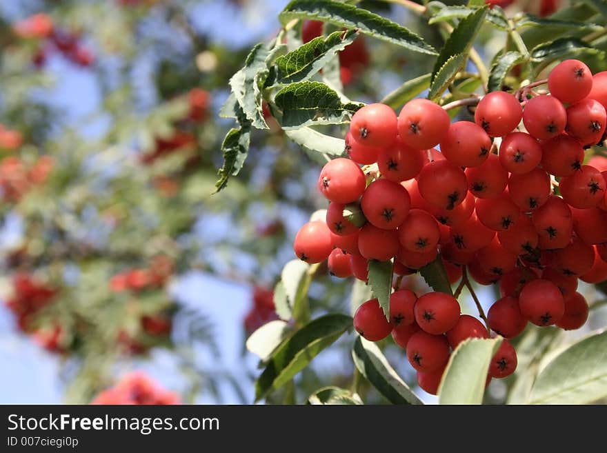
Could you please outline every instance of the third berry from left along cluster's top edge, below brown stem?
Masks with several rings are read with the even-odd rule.
[[[452,123],[441,140],[441,152],[459,167],[477,167],[486,161],[491,139],[477,124],[470,121]]]

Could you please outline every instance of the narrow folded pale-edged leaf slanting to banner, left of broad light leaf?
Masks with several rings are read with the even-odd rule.
[[[359,336],[352,348],[356,368],[392,404],[424,404],[372,341]]]

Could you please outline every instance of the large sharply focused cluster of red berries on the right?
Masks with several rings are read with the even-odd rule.
[[[366,281],[370,260],[394,259],[395,274],[405,275],[440,252],[450,283],[464,270],[483,285],[499,281],[503,298],[492,305],[488,323],[505,338],[528,321],[584,325],[588,304],[576,292],[577,281],[607,279],[607,158],[583,165],[584,149],[604,140],[607,72],[593,77],[581,61],[567,60],[547,83],[550,95],[533,86],[486,94],[475,122],[451,123],[426,99],[408,102],[398,117],[379,103],[358,110],[346,136],[350,159],[330,161],[319,176],[318,188],[330,201],[326,221],[299,230],[295,254],[308,263],[328,259],[333,275]],[[406,338],[421,329],[408,355],[426,390],[434,387],[424,373],[440,374],[448,347],[459,343],[448,340],[452,329],[457,339],[487,334],[479,321],[460,316],[446,294],[422,296],[415,303],[419,313],[415,319],[409,313],[407,323],[388,323],[377,301],[364,307],[375,315],[359,310],[355,325],[368,339],[379,339],[369,336],[372,330],[383,338],[394,328]],[[426,328],[427,319],[441,328]],[[417,342],[435,352],[418,351]],[[435,367],[424,368],[416,354]],[[516,354],[507,341],[500,354],[491,376],[514,371]]]

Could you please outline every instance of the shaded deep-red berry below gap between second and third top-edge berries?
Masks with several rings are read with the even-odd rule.
[[[440,209],[452,210],[468,192],[464,170],[449,161],[434,161],[424,166],[417,179],[421,197]]]

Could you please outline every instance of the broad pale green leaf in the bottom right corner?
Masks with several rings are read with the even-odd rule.
[[[607,396],[607,332],[575,343],[537,377],[531,404],[586,404]]]

